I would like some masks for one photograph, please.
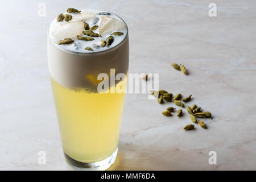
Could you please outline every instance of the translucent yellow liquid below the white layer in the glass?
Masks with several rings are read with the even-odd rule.
[[[117,150],[125,93],[69,89],[51,78],[64,153],[83,163],[108,158]],[[127,78],[115,87],[127,84]]]

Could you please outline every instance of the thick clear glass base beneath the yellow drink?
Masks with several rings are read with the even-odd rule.
[[[117,148],[118,150],[118,148]],[[113,152],[112,155],[110,155],[108,158],[95,162],[95,163],[82,163],[79,162],[75,159],[72,159],[70,156],[68,156],[67,154],[65,154],[64,152],[64,156],[65,159],[67,161],[67,163],[69,164],[69,166],[71,166],[73,169],[75,170],[79,170],[79,171],[104,171],[106,169],[108,169],[114,162],[115,159],[117,158],[117,150],[115,150]]]

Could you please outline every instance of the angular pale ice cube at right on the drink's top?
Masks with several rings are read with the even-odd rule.
[[[118,31],[125,28],[125,23],[109,16],[102,16],[100,23],[100,34],[110,31]]]

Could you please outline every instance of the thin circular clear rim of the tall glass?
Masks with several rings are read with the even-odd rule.
[[[98,10],[98,9],[85,9],[85,10]],[[127,28],[127,34],[125,35],[125,38],[123,38],[123,40],[121,42],[119,42],[117,45],[115,45],[114,47],[106,49],[104,51],[97,51],[97,52],[77,52],[77,51],[71,51],[71,50],[62,48],[62,47],[58,46],[57,44],[53,43],[52,40],[49,38],[49,26],[51,25],[51,23],[49,24],[49,26],[47,28],[47,38],[49,39],[49,41],[52,44],[54,44],[54,46],[56,46],[61,51],[64,51],[64,52],[67,52],[67,53],[72,53],[72,54],[75,54],[75,55],[94,55],[94,54],[101,54],[101,53],[106,53],[106,52],[109,52],[109,51],[113,51],[114,49],[120,47],[123,44],[123,42],[125,42],[125,40],[128,38],[128,32],[129,32],[128,26],[127,26],[125,20],[123,20],[120,16],[118,16],[118,15],[116,15],[116,14],[110,12],[110,11],[105,11],[105,10],[99,10],[99,11],[113,14],[113,15],[117,16],[118,18],[120,18],[123,21],[123,23],[125,23],[125,26]]]

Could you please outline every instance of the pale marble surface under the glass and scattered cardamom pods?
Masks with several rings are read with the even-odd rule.
[[[47,27],[67,7],[109,10],[129,26],[130,73],[159,73],[162,89],[192,94],[212,112],[208,129],[164,117],[171,104],[127,94],[117,161],[110,170],[256,169],[256,2],[0,1],[0,169],[70,170],[65,163],[49,73]],[[46,16],[38,16],[45,3]],[[183,63],[189,75],[170,64]],[[46,151],[46,165],[38,152]],[[217,164],[208,163],[216,151]]]

